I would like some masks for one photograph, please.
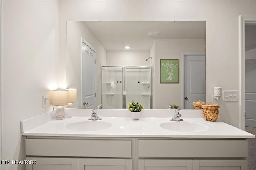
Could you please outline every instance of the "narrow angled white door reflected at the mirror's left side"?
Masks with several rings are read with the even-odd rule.
[[[82,108],[96,108],[96,53],[82,41]]]

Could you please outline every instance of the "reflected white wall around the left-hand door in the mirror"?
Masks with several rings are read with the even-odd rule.
[[[96,49],[96,106],[101,103],[100,66],[106,64],[106,50],[83,22],[67,22],[66,87],[77,89],[78,107],[81,106],[81,37]]]

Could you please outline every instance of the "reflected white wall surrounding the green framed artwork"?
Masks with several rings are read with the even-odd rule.
[[[154,105],[156,109],[169,104],[182,106],[182,52],[205,52],[204,39],[157,39],[155,60]],[[179,83],[160,83],[160,59],[179,60]]]

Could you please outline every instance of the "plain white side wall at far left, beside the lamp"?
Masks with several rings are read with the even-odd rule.
[[[58,88],[58,33],[58,1],[2,0],[2,160],[24,160],[20,121],[51,110],[42,96]]]

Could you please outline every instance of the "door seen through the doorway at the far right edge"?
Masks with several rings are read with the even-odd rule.
[[[245,60],[245,125],[256,127],[256,59]]]

